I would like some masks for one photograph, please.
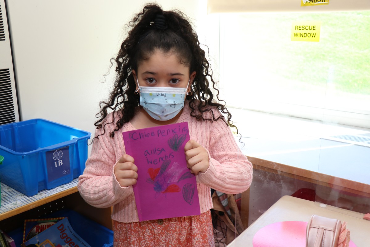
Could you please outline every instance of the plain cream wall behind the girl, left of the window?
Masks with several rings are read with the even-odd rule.
[[[8,0],[22,120],[44,118],[94,133],[98,103],[108,97],[114,70],[105,83],[103,74],[125,37],[125,24],[145,3]],[[206,1],[158,3],[183,11],[197,29],[204,25]]]

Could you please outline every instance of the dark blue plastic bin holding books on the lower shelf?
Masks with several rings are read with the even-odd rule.
[[[68,209],[56,211],[43,218],[68,217],[73,230],[88,243],[91,247],[112,247],[113,231],[101,224],[90,220],[81,214]],[[9,232],[9,236],[14,239],[16,246],[20,246],[23,239],[23,228],[18,228]]]

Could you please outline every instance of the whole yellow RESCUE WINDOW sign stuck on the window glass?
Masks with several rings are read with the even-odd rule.
[[[292,41],[320,41],[321,21],[295,21],[292,23]]]

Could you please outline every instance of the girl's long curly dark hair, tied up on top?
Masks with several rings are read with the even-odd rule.
[[[135,94],[136,84],[132,70],[137,71],[141,61],[148,59],[156,50],[161,50],[164,53],[173,52],[182,64],[189,66],[190,71],[196,71],[191,93],[186,96],[191,116],[197,120],[223,119],[238,132],[231,121],[231,113],[225,107],[225,101],[218,97],[219,90],[212,77],[211,65],[205,57],[205,51],[200,47],[198,35],[184,13],[178,10],[163,11],[157,4],[147,4],[128,26],[131,28],[128,37],[122,42],[117,57],[111,59],[111,62],[117,64],[115,67],[117,76],[109,100],[101,101],[99,104],[100,112],[97,114],[99,120],[95,122],[97,128],[103,128],[105,133],[105,125],[115,122],[115,129],[109,133],[113,137],[115,131],[134,117],[139,97]],[[209,88],[210,82],[207,77],[216,95]],[[215,98],[224,104],[217,103]],[[227,115],[227,119],[223,115],[215,118],[209,106],[217,107]],[[108,110],[116,111],[119,119],[115,120],[113,116],[111,123],[104,122]],[[203,114],[205,112],[211,113],[212,118],[205,118]]]

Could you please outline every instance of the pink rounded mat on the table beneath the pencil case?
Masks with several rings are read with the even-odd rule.
[[[306,247],[305,221],[282,221],[261,228],[253,237],[253,247]],[[352,241],[349,247],[357,247]]]

